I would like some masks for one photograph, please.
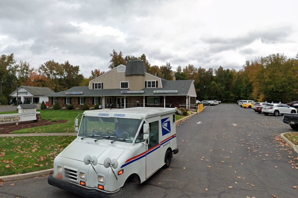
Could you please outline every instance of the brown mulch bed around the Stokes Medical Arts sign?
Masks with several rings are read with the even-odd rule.
[[[19,122],[18,125],[15,125],[15,123],[1,124],[0,134],[12,133],[13,131],[20,130],[23,128],[54,125],[54,124],[60,124],[64,122],[68,122],[68,120],[59,120],[58,122],[50,122],[49,120],[41,120],[41,122],[34,122],[34,120],[31,120],[31,121]]]

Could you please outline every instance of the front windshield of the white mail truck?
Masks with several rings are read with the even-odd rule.
[[[141,122],[142,120],[139,119],[84,116],[79,136],[100,135],[93,137],[93,139],[105,139],[105,136],[113,136],[109,140],[134,140]],[[133,141],[125,142],[132,143]]]

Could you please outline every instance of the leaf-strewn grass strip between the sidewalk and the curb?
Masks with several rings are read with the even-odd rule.
[[[54,158],[76,136],[6,137],[0,139],[0,176],[53,168]]]

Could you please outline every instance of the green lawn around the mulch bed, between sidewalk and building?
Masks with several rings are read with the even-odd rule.
[[[75,117],[78,114],[83,113],[83,110],[53,110],[53,109],[39,109],[42,120],[51,120],[52,118],[58,118],[58,120],[69,120],[69,122],[53,124],[48,126],[40,126],[33,128],[24,128],[21,130],[13,131],[13,133],[52,133],[52,132],[75,132]],[[17,113],[18,111],[6,111],[1,114]],[[79,117],[80,121],[81,116]]]

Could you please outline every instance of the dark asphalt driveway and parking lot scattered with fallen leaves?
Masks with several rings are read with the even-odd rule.
[[[298,155],[275,139],[294,131],[282,119],[237,104],[207,106],[177,126],[170,167],[140,185],[126,183],[116,197],[297,197]],[[75,195],[39,177],[4,182],[0,197],[16,196]]]

